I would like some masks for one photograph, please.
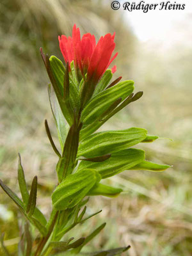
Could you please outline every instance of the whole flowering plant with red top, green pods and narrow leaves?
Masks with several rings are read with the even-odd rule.
[[[59,36],[60,49],[65,65],[55,56],[45,55],[40,49],[47,74],[51,81],[48,86],[52,115],[56,122],[60,150],[51,137],[49,125],[45,120],[45,130],[54,152],[58,156],[56,173],[58,184],[52,198],[52,212],[47,221],[36,207],[37,177],[33,179],[28,191],[24,170],[19,156],[18,180],[22,200],[2,181],[1,187],[17,204],[26,218],[24,233],[19,243],[19,255],[56,255],[65,252],[76,255],[104,228],[97,227],[86,237],[72,242],[74,237],[65,240],[65,234],[79,223],[92,218],[99,212],[84,217],[88,196],[118,196],[121,188],[113,188],[102,183],[125,170],[163,171],[165,164],[145,160],[145,152],[132,146],[157,140],[147,130],[132,127],[120,131],[95,132],[122,108],[134,102],[143,92],[133,93],[134,82],[120,82],[118,77],[111,82],[116,66],[111,69],[111,58],[115,50],[115,34],[107,34],[95,42],[95,36],[80,35],[74,25],[72,37]],[[29,226],[36,227],[36,238]],[[64,239],[64,240],[63,240]],[[4,247],[5,255],[10,255]],[[119,255],[130,246],[91,252],[90,255]]]

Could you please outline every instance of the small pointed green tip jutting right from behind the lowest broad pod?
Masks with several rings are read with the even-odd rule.
[[[111,186],[106,186],[104,184],[97,183],[93,188],[88,192],[89,196],[108,196],[108,197],[116,197],[123,190],[120,188],[113,188]]]

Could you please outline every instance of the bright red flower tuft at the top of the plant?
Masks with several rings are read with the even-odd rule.
[[[90,33],[84,34],[81,38],[79,28],[74,25],[71,36],[59,36],[60,49],[65,62],[71,63],[74,60],[77,76],[81,71],[82,76],[87,73],[87,80],[97,84],[111,62],[116,58],[111,55],[115,49],[115,33],[101,36],[96,44],[95,36]],[[112,72],[116,71],[116,66]]]

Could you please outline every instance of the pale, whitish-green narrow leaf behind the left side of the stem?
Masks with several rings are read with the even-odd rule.
[[[58,137],[60,140],[61,150],[63,150],[65,139],[67,137],[67,129],[66,129],[66,122],[63,116],[63,113],[60,108],[60,104],[58,103],[58,99],[52,89],[51,84],[48,86],[48,93],[49,93],[49,102],[51,105],[52,115],[54,116],[54,120],[56,122],[56,127],[58,130]]]

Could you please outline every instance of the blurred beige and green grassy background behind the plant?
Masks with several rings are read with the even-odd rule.
[[[94,33],[97,40],[116,31],[115,77],[133,79],[135,92],[144,94],[102,129],[148,129],[161,139],[140,145],[147,159],[173,167],[163,173],[129,171],[113,177],[110,184],[125,192],[113,199],[92,198],[88,212],[103,211],[76,232],[86,235],[107,219],[106,229],[87,250],[131,244],[124,255],[190,256],[192,9],[187,5],[186,11],[131,13],[112,10],[110,4],[107,0],[1,0],[0,177],[19,193],[20,152],[28,184],[38,175],[37,203],[49,216],[57,157],[45,134],[45,118],[57,138],[39,48],[63,60],[58,35],[70,35],[74,23],[82,34]],[[18,216],[1,190],[0,227],[13,255],[19,242]]]

